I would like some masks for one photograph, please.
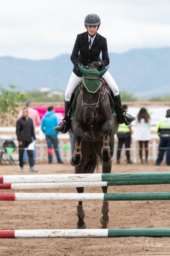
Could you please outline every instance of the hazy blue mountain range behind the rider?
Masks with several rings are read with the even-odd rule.
[[[109,57],[108,71],[120,90],[140,99],[170,94],[170,47],[133,49]],[[16,85],[21,92],[41,87],[64,92],[72,69],[69,54],[38,61],[4,56],[0,57],[0,85]]]

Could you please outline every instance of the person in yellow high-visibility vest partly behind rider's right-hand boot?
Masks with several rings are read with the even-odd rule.
[[[128,106],[125,104],[122,106],[122,108],[127,112]],[[117,146],[117,164],[120,164],[120,156],[121,156],[121,150],[122,146],[124,144],[125,150],[126,150],[126,160],[127,164],[133,164],[130,160],[130,147],[131,147],[131,125],[125,125],[125,124],[119,124],[119,129],[117,132],[117,138],[118,138],[118,146]]]

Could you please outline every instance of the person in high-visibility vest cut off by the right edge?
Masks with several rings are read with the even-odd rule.
[[[160,165],[166,152],[166,164],[170,165],[170,109],[166,115],[159,120],[156,133],[160,137],[159,154],[155,165]]]

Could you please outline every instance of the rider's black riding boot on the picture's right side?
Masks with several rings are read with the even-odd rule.
[[[122,108],[122,102],[121,102],[121,98],[120,96],[115,96],[115,109],[117,112],[117,120],[119,122],[119,124],[126,124],[129,125],[131,124],[132,121],[134,121],[136,119],[136,117],[133,117],[129,114],[126,113],[126,111],[124,111],[124,109]]]

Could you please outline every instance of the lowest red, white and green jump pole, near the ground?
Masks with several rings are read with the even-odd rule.
[[[51,238],[51,237],[170,237],[170,229],[35,229],[0,230],[0,238]]]

